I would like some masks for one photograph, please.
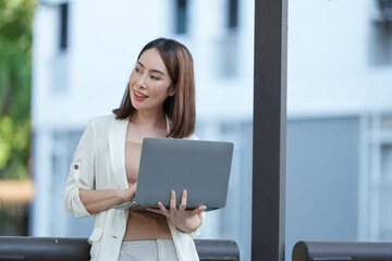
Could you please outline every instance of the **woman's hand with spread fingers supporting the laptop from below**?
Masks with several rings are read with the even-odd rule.
[[[159,209],[147,208],[148,211],[163,214],[170,219],[170,221],[180,231],[184,233],[192,233],[201,225],[199,213],[207,209],[206,206],[199,206],[193,210],[186,210],[186,197],[187,192],[184,189],[182,192],[181,202],[179,208],[175,207],[175,191],[170,192],[170,208],[167,209],[162,202],[158,202]]]

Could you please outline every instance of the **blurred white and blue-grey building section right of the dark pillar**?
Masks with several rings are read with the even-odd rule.
[[[287,248],[392,239],[391,13],[389,0],[290,3]]]

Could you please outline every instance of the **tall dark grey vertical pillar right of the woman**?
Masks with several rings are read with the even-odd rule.
[[[284,260],[287,0],[255,1],[252,260]]]

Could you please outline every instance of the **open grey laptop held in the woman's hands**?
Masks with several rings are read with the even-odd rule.
[[[174,190],[176,206],[187,190],[187,209],[206,206],[207,210],[225,206],[233,156],[232,142],[169,138],[145,138],[135,201],[117,209],[142,210],[170,204]]]

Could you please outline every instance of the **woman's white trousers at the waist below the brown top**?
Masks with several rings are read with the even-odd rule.
[[[119,261],[179,261],[172,239],[123,241]]]

